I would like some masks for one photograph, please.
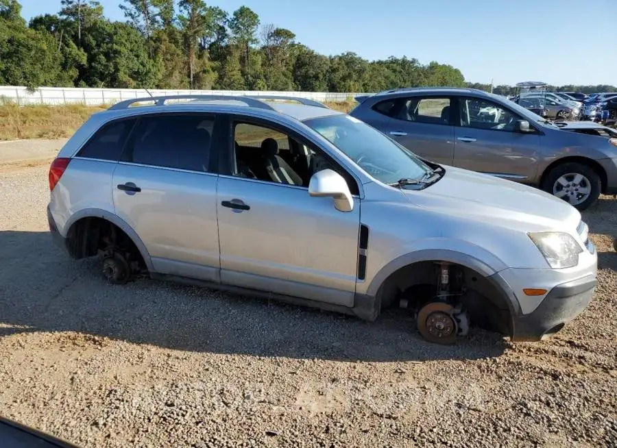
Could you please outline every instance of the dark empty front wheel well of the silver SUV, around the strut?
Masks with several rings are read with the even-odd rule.
[[[401,299],[418,310],[437,296],[439,260],[417,262],[392,273],[379,289],[382,308],[394,308]],[[512,334],[509,297],[484,275],[461,264],[450,264],[450,282],[461,293],[453,297],[468,311],[472,325]]]

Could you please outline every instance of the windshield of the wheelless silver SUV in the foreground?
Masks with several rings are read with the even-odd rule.
[[[330,115],[304,121],[384,184],[422,179],[429,168],[422,160],[373,127],[349,115]]]

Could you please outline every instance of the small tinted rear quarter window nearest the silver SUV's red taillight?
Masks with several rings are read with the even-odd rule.
[[[128,134],[136,119],[114,121],[101,127],[77,153],[77,157],[89,159],[120,160]]]

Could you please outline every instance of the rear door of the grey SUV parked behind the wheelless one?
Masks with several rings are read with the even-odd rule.
[[[450,97],[407,97],[399,101],[386,134],[421,158],[451,165],[455,142]]]

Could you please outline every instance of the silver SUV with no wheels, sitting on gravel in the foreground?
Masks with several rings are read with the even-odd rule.
[[[101,254],[111,283],[147,274],[369,321],[403,307],[436,343],[470,323],[537,340],[592,297],[596,251],[564,201],[424,162],[313,101],[170,99],[186,98],[94,114],[49,170],[54,238]]]

